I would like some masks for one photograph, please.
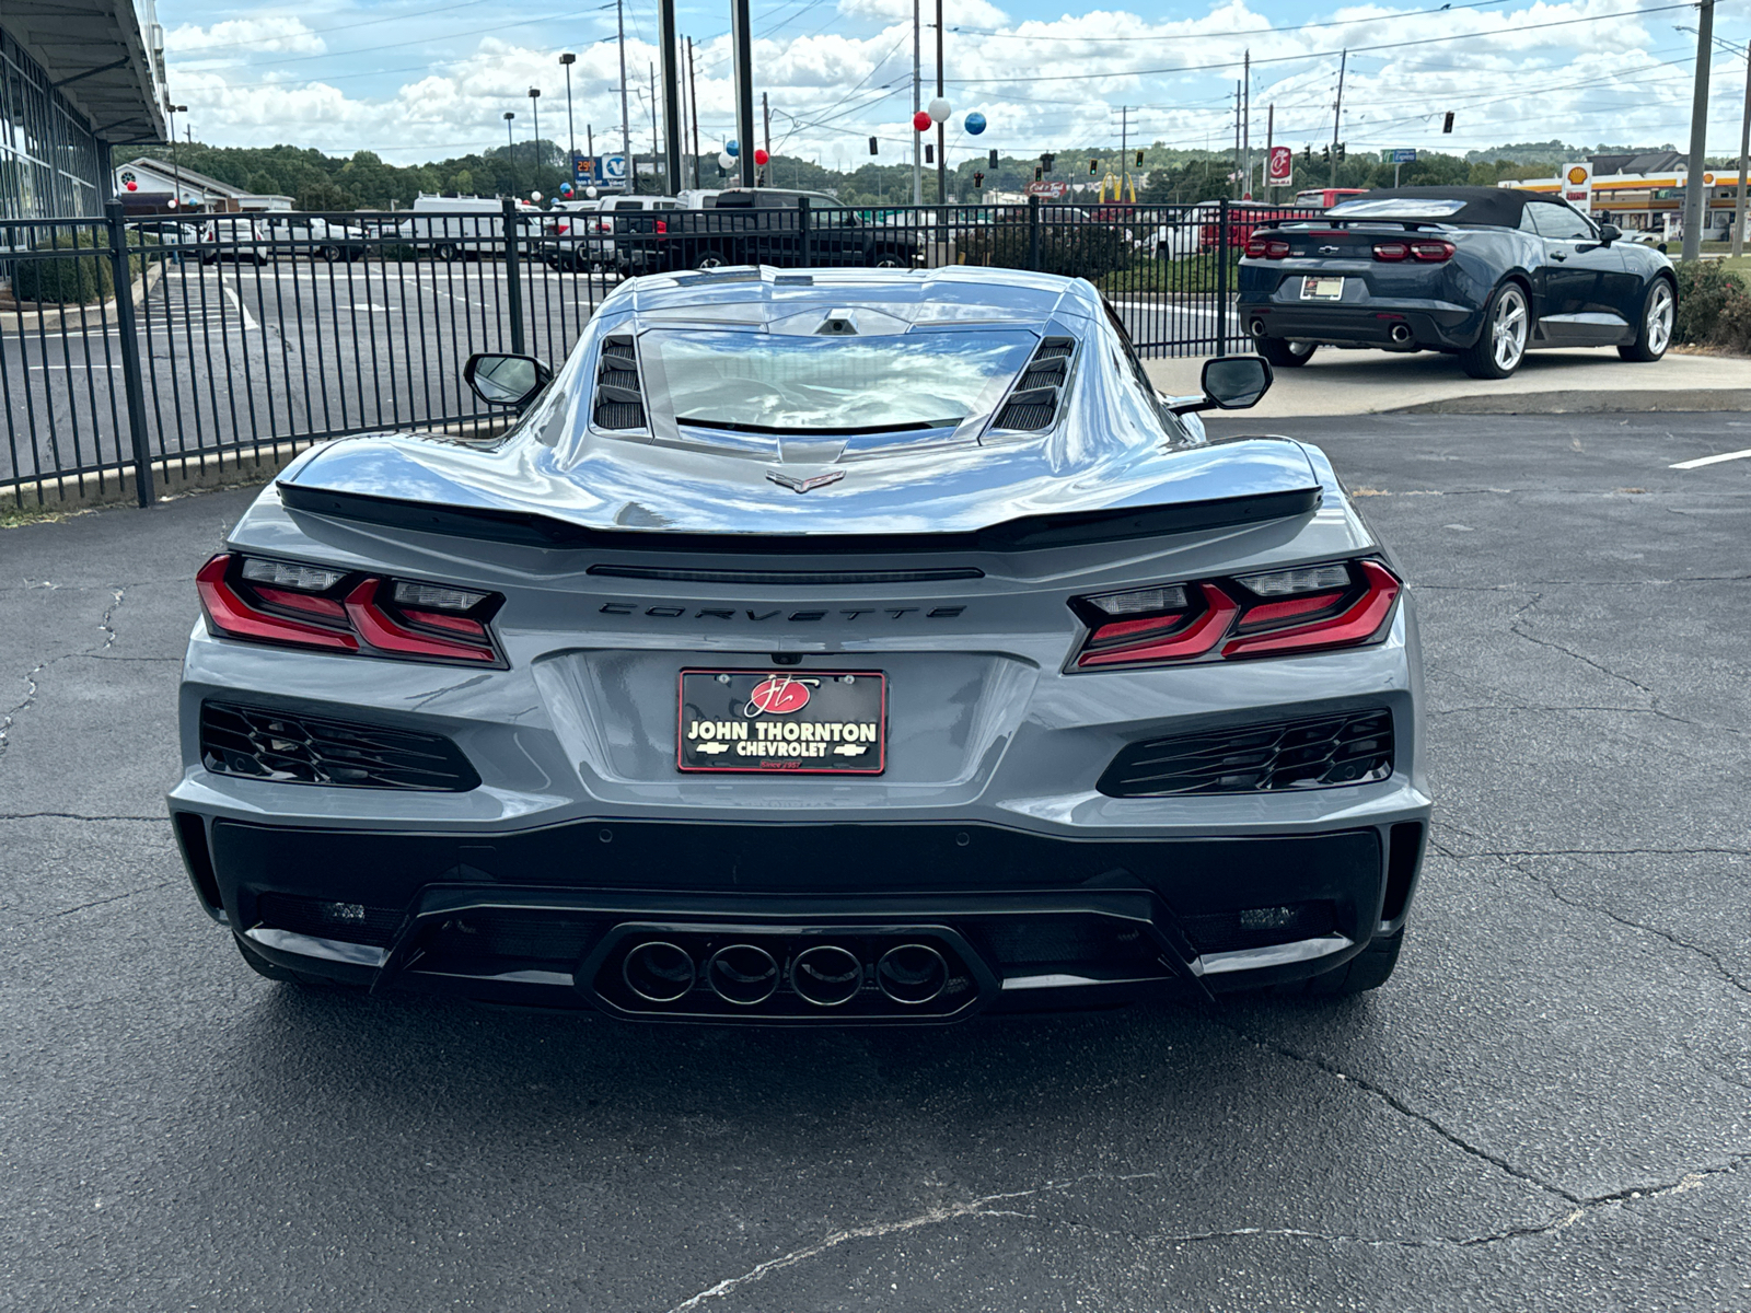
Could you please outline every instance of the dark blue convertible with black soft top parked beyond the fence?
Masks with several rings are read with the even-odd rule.
[[[1448,352],[1473,378],[1506,378],[1537,347],[1658,361],[1676,310],[1658,250],[1508,187],[1371,191],[1257,228],[1240,263],[1241,324],[1276,366],[1322,345]]]

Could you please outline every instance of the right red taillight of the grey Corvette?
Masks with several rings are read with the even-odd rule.
[[[1075,669],[1357,648],[1387,634],[1403,583],[1378,560],[1297,565],[1072,599],[1089,634]]]

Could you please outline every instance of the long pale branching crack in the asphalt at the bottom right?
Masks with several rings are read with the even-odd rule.
[[[1254,1040],[1252,1036],[1241,1035],[1241,1038],[1247,1038],[1252,1043],[1257,1043],[1259,1047],[1264,1049],[1273,1047],[1259,1040]],[[1301,1059],[1301,1061],[1315,1061],[1315,1059]],[[1319,1063],[1315,1061],[1315,1064]],[[1357,1080],[1357,1078],[1348,1077],[1348,1080]],[[1366,1082],[1357,1080],[1357,1084],[1366,1084]],[[1410,1115],[1417,1117],[1418,1120],[1427,1120],[1418,1113],[1410,1113]],[[1462,1143],[1460,1147],[1464,1148]],[[1476,1152],[1476,1150],[1467,1150],[1467,1152]],[[1523,1173],[1511,1173],[1522,1176],[1522,1180],[1529,1180],[1534,1185],[1541,1185],[1541,1189],[1546,1189],[1551,1194],[1560,1196],[1572,1206],[1551,1217],[1546,1222],[1502,1227],[1501,1231],[1487,1231],[1476,1236],[1359,1236],[1359,1234],[1333,1232],[1333,1231],[1308,1231],[1304,1227],[1273,1227],[1273,1225],[1224,1227],[1213,1231],[1180,1231],[1180,1232],[1114,1232],[1107,1227],[1096,1227],[1089,1222],[1054,1220],[1054,1218],[1044,1218],[1038,1213],[1026,1213],[1016,1208],[995,1206],[1023,1199],[1037,1199],[1047,1194],[1063,1196],[1073,1189],[1091,1183],[1161,1180],[1163,1176],[1163,1173],[1159,1171],[1138,1171],[1122,1176],[1094,1173],[1087,1176],[1073,1176],[1063,1182],[1047,1182],[1045,1185],[1038,1185],[1028,1190],[1005,1190],[1000,1194],[982,1194],[965,1203],[926,1208],[923,1213],[904,1217],[895,1222],[868,1222],[865,1225],[833,1231],[823,1236],[821,1239],[814,1241],[812,1245],[804,1245],[800,1248],[790,1250],[788,1253],[781,1253],[776,1259],[767,1259],[765,1262],[758,1262],[746,1273],[741,1273],[739,1276],[727,1276],[716,1285],[709,1285],[704,1290],[688,1295],[679,1304],[671,1306],[667,1313],[690,1313],[692,1309],[702,1308],[706,1302],[713,1299],[721,1299],[723,1295],[734,1294],[744,1285],[762,1281],[772,1273],[784,1271],[786,1267],[797,1267],[804,1262],[809,1262],[811,1259],[818,1259],[819,1255],[835,1250],[840,1245],[846,1245],[847,1241],[853,1239],[884,1239],[888,1236],[905,1234],[909,1231],[919,1231],[923,1227],[940,1225],[944,1222],[958,1222],[967,1217],[1019,1218],[1026,1222],[1040,1222],[1044,1225],[1052,1225],[1065,1231],[1089,1231],[1101,1236],[1124,1234],[1133,1241],[1154,1243],[1154,1245],[1206,1245],[1206,1243],[1231,1241],[1231,1239],[1313,1239],[1324,1245],[1366,1245],[1371,1248],[1418,1248],[1418,1250],[1476,1248],[1481,1245],[1501,1245],[1515,1239],[1551,1236],[1560,1231],[1567,1231],[1578,1222],[1583,1222],[1590,1213],[1600,1208],[1621,1208],[1630,1203],[1667,1199],[1677,1194],[1688,1194],[1690,1190],[1702,1187],[1711,1176],[1737,1173],[1739,1168],[1747,1161],[1751,1161],[1751,1154],[1735,1154],[1718,1166],[1707,1166],[1686,1171],[1677,1180],[1662,1182],[1656,1185],[1634,1185],[1621,1190],[1613,1190],[1611,1194],[1597,1194],[1597,1196],[1576,1196],[1558,1187],[1544,1185],[1543,1182],[1525,1176]]]

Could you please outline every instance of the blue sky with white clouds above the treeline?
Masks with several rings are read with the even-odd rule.
[[[935,93],[933,0],[925,0],[925,100]],[[1721,0],[1711,61],[1709,154],[1737,154],[1751,0]],[[734,137],[728,0],[681,0],[693,39],[700,145]],[[620,142],[613,0],[158,0],[179,133],[214,145],[375,151],[413,165],[541,135],[599,152]],[[1341,138],[1352,152],[1464,152],[1502,142],[1688,144],[1693,4],[1672,0],[1154,0],[1066,12],[1065,0],[944,0],[949,159],[996,147],[1166,142],[1222,149],[1250,51],[1250,138],[1275,105],[1275,140]],[[912,0],[753,0],[755,91],[772,103],[772,149],[858,168],[911,145]],[[651,151],[655,0],[625,0],[632,147]],[[1740,53],[1723,44],[1739,46]],[[573,65],[567,128],[562,51]],[[968,110],[988,121],[963,130]],[[1455,130],[1441,133],[1446,110]],[[758,116],[758,105],[756,105]]]

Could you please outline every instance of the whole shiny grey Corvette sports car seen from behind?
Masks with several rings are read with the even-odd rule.
[[[490,441],[306,452],[198,574],[170,812],[278,980],[944,1022],[1382,984],[1417,627],[1319,448],[1087,282],[655,275]]]

